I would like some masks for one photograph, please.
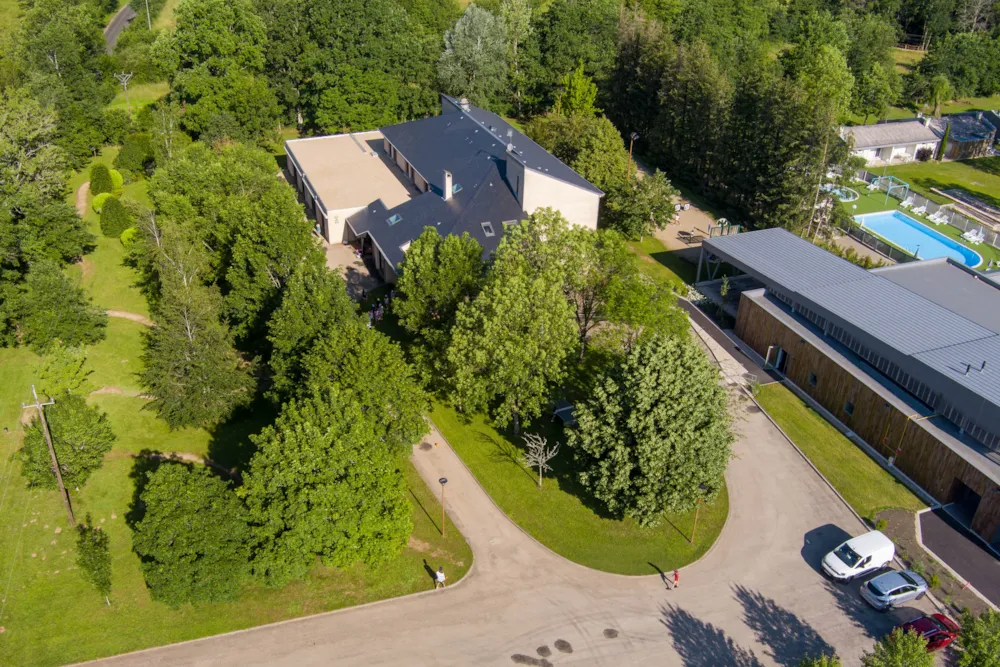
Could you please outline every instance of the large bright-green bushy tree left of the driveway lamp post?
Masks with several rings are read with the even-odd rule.
[[[398,457],[350,392],[329,388],[285,405],[252,439],[240,489],[253,524],[255,574],[271,585],[327,565],[379,565],[413,523]]]

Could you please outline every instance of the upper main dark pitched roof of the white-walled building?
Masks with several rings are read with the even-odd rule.
[[[438,194],[443,192],[445,170],[452,173],[453,182],[465,187],[465,181],[481,178],[490,162],[496,163],[500,175],[506,178],[507,160],[516,160],[527,169],[588,192],[603,194],[500,116],[475,106],[462,111],[453,98],[442,97],[450,103],[449,107],[456,109],[454,112],[381,128],[382,135]],[[513,152],[507,151],[508,143],[513,144]]]

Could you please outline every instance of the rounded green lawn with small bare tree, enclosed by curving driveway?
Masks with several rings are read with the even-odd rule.
[[[701,508],[693,546],[688,544],[692,514],[670,514],[659,527],[646,529],[631,520],[606,518],[595,510],[593,501],[582,499],[586,496],[572,476],[572,452],[567,448],[550,462],[553,476],[539,489],[537,477],[516,461],[519,449],[483,417],[466,423],[454,410],[438,404],[431,418],[511,520],[581,565],[619,574],[666,572],[704,554],[726,521],[729,499],[725,490],[713,504]],[[549,442],[561,438],[545,427]]]

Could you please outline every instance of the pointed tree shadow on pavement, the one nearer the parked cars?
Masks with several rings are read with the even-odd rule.
[[[836,653],[811,625],[771,598],[739,585],[733,587],[733,594],[743,605],[743,622],[779,665],[797,667],[805,657]]]

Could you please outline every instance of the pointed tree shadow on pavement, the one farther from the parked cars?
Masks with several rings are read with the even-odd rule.
[[[753,651],[737,646],[711,623],[674,605],[660,607],[660,613],[685,667],[763,667]]]

